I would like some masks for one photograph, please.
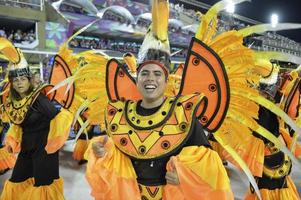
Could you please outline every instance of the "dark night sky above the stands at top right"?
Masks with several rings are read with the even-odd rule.
[[[219,0],[199,0],[213,5]],[[177,1],[176,1],[177,2]],[[269,23],[272,13],[277,13],[279,22],[292,22],[301,24],[300,0],[252,0],[236,5],[235,13],[255,19],[262,23]],[[277,32],[301,43],[301,29]]]

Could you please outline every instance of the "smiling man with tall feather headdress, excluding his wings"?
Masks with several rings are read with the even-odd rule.
[[[87,179],[97,200],[233,199],[226,170],[197,119],[204,96],[164,95],[167,27],[168,1],[154,0],[153,24],[137,62],[142,98],[109,102],[108,136],[92,140],[87,151]]]

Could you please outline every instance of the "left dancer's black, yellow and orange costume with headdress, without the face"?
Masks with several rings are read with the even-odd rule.
[[[61,102],[57,95],[60,91],[48,94],[52,85],[32,87],[23,98],[12,98],[10,84],[14,78],[26,77],[30,81],[31,73],[23,54],[5,38],[0,38],[0,58],[9,61],[8,79],[3,82],[1,96],[1,120],[11,123],[5,146],[18,153],[1,200],[63,200],[58,150],[68,138],[74,114],[65,109],[70,105],[62,104],[65,108],[58,111],[50,102]],[[68,103],[66,100],[62,101]]]

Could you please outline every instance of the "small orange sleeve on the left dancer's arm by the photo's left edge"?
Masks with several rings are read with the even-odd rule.
[[[11,124],[5,138],[5,145],[12,148],[13,153],[21,150],[22,128],[19,125]]]

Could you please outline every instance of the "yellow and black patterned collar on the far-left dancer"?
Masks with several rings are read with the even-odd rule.
[[[7,84],[5,88],[6,87],[9,87],[9,84]],[[2,95],[3,110],[7,114],[9,120],[16,125],[22,124],[29,107],[34,103],[41,92],[46,94],[49,87],[51,86],[42,85],[21,100],[12,100],[9,98],[8,92],[4,93]],[[50,100],[51,98],[52,96],[50,97]]]

